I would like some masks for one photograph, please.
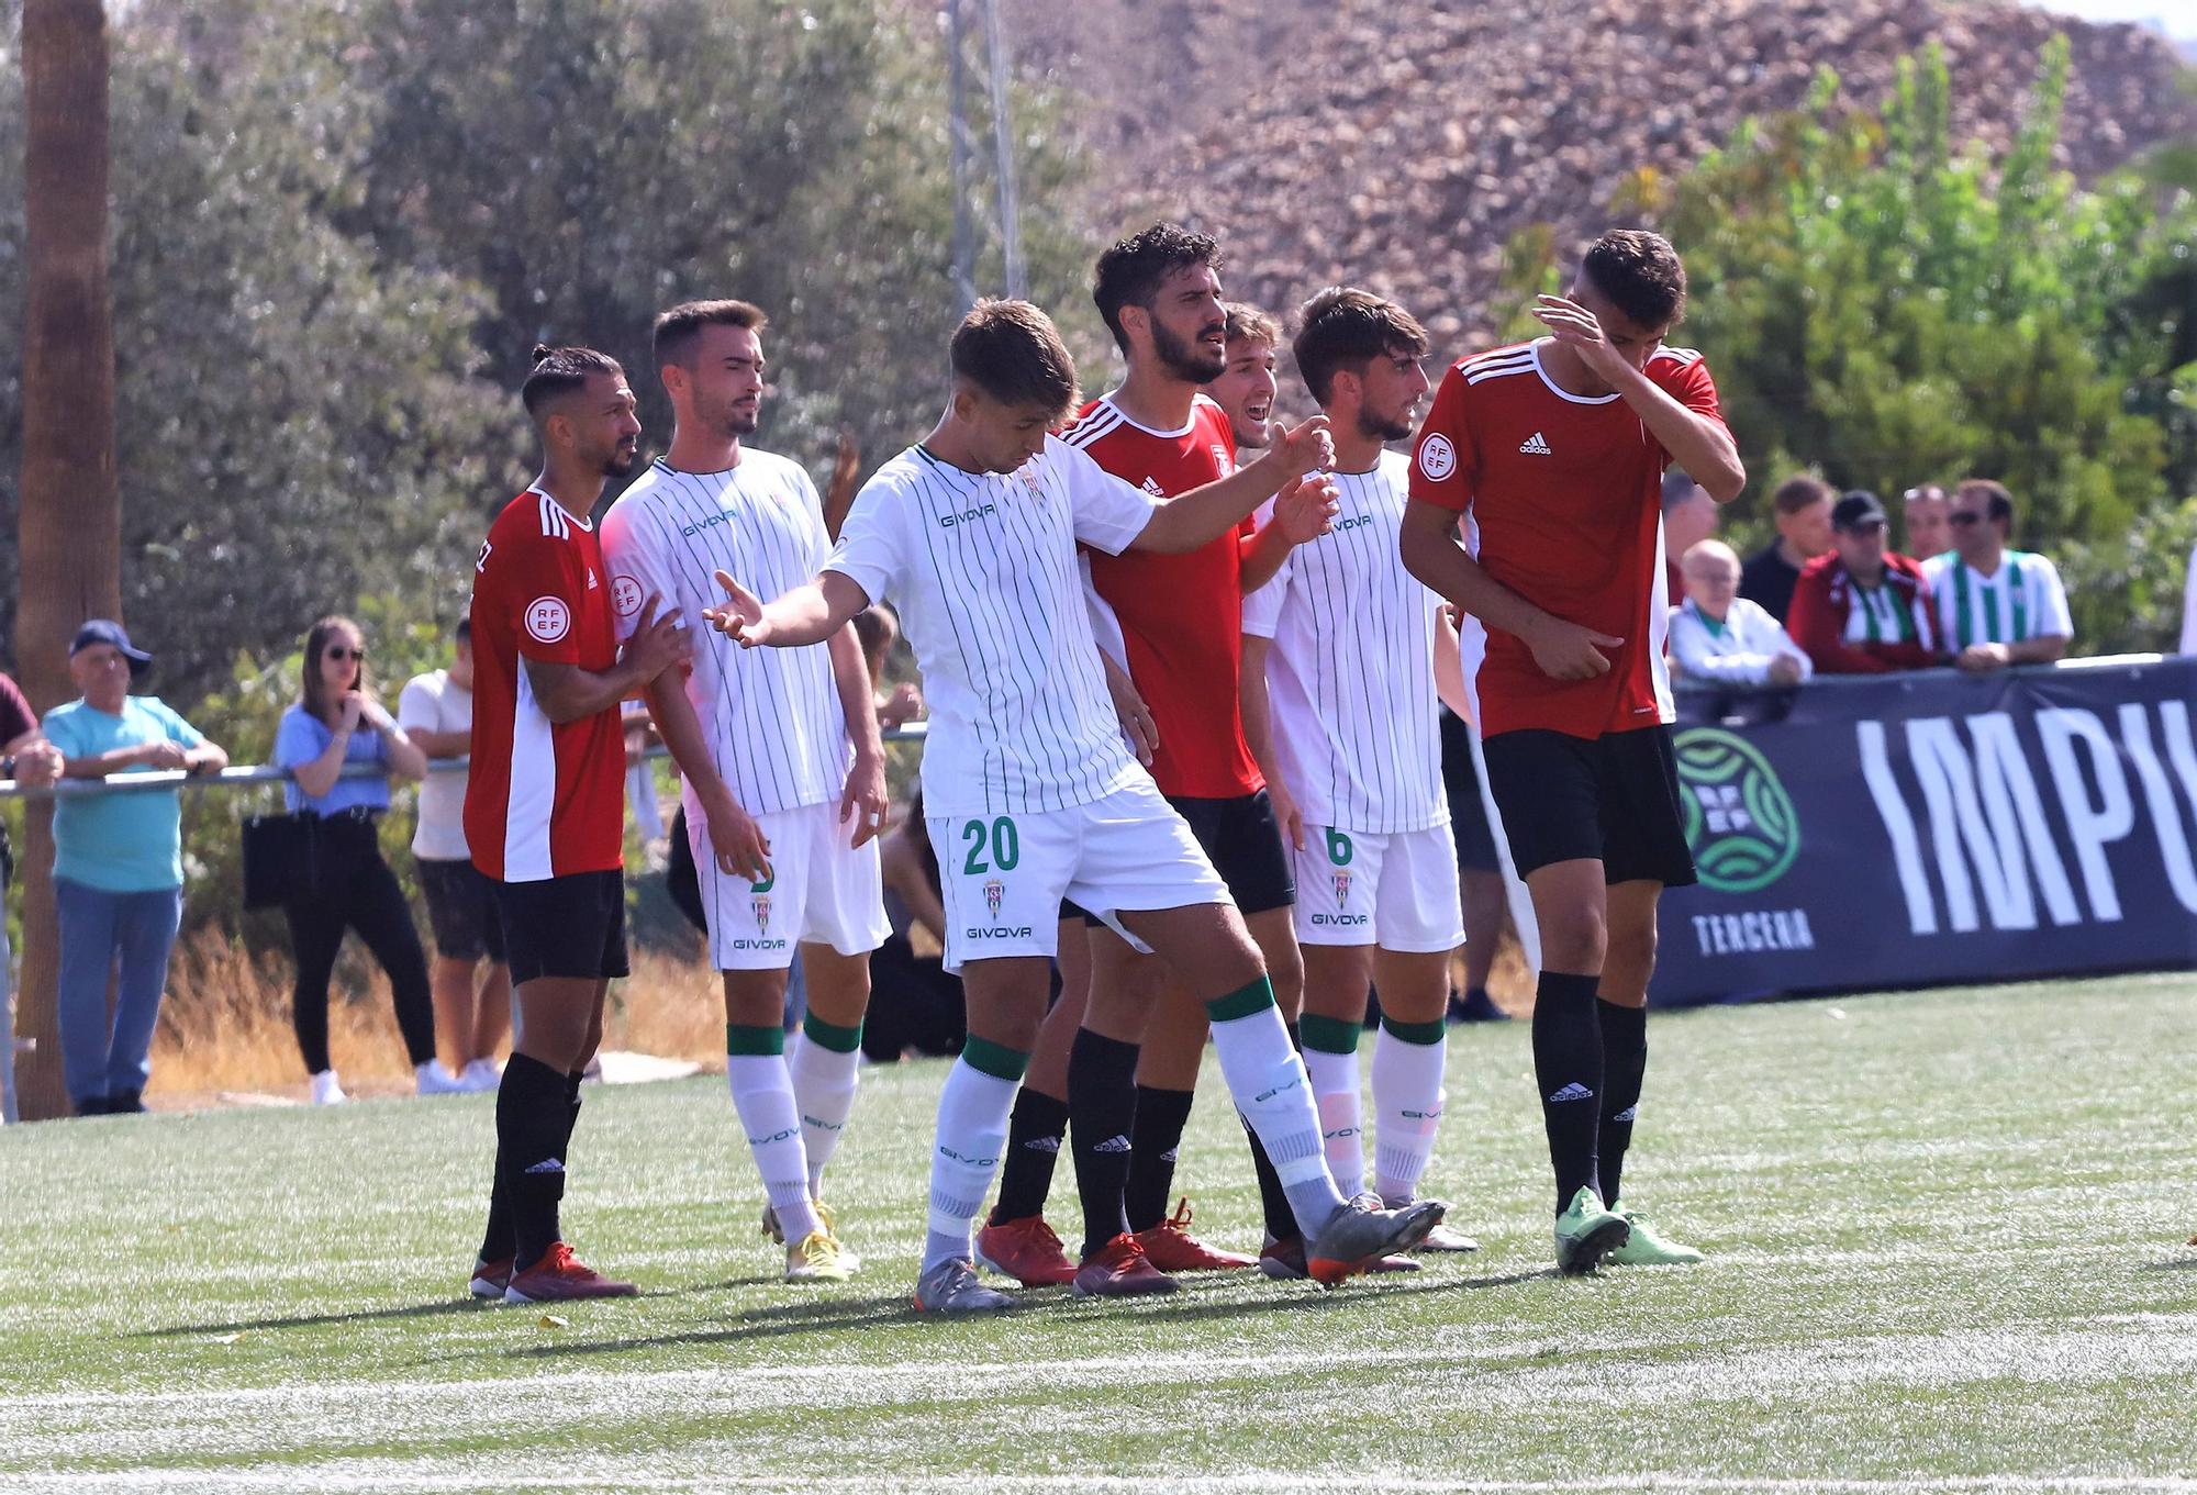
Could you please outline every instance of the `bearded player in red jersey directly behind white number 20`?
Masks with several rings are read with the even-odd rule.
[[[1235,431],[1200,387],[1226,374],[1228,319],[1219,297],[1219,246],[1178,224],[1156,224],[1098,257],[1094,301],[1129,365],[1120,389],[1083,409],[1066,440],[1101,468],[1169,499],[1235,470]],[[1241,598],[1272,576],[1303,536],[1287,525],[1246,521],[1193,554],[1085,554],[1094,629],[1112,671],[1134,699],[1118,712],[1153,726],[1151,776],[1189,820],[1259,941],[1283,1020],[1294,1022],[1303,967],[1290,932],[1287,857],[1265,785],[1244,741]],[[1116,675],[1118,679],[1118,675]],[[1134,1075],[1134,1117],[1072,1121],[1077,1189],[1088,1220],[1123,1194],[1125,1220],[1160,1271],[1224,1271],[1254,1258],[1215,1251],[1189,1233],[1189,1207],[1169,1216],[1182,1141],[1206,1040],[1206,1016],[1162,965],[1118,934],[1092,928],[1090,1005],[1068,1060],[1070,1110],[1077,1075],[1096,1095]],[[1145,1016],[1149,1014],[1149,1016]],[[1294,1042],[1294,1033],[1292,1033]],[[1125,1145],[1127,1143],[1127,1145]],[[1298,1240],[1287,1192],[1250,1134],[1268,1229]],[[1006,1231],[1000,1231],[1006,1233]],[[993,1251],[986,1231],[980,1247]],[[1098,1249],[1085,1240],[1085,1253]]]

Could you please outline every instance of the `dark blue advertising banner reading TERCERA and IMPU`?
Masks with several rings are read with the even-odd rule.
[[[2197,660],[1679,697],[1650,1000],[2197,965]]]

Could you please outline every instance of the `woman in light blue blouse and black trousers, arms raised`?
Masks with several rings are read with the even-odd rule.
[[[275,763],[290,769],[283,800],[292,811],[321,818],[310,886],[283,901],[297,987],[290,1016],[297,1046],[312,1073],[312,1099],[345,1099],[327,1057],[327,981],[336,970],[343,932],[356,930],[389,972],[398,1029],[411,1053],[420,1090],[442,1090],[431,1075],[435,1009],[428,1000],[426,952],[411,921],[411,906],[395,873],[382,862],[376,820],[389,809],[391,778],[420,778],[426,754],[413,745],[367,682],[367,646],[349,618],[323,618],[305,635],[305,671],[297,706],[275,734]],[[380,765],[382,774],[345,778],[349,765]]]

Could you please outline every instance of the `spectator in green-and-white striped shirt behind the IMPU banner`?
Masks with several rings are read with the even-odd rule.
[[[2067,589],[2045,556],[2006,545],[2012,495],[1971,477],[1953,488],[1947,523],[1953,550],[1927,561],[1922,576],[1953,664],[1982,673],[2063,660],[2074,638]]]

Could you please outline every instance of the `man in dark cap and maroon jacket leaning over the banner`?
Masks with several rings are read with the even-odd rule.
[[[1824,675],[1944,664],[1922,563],[1885,552],[1874,492],[1848,492],[1830,508],[1830,554],[1802,569],[1786,624]]]

